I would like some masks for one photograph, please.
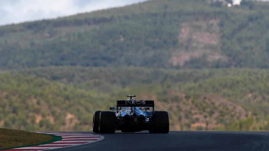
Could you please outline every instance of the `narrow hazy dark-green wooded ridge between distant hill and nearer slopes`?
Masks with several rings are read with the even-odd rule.
[[[226,76],[267,75],[263,69],[203,69],[203,70],[173,70],[143,67],[40,67],[12,70],[12,73],[35,75],[52,81],[73,84],[84,89],[94,89],[97,86],[109,88],[113,85],[126,87],[137,84],[182,83],[204,81],[210,78]],[[112,88],[111,87],[111,88]],[[98,90],[105,91],[104,87]],[[111,90],[111,89],[109,89]]]

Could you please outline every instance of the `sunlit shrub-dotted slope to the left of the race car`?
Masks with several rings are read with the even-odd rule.
[[[0,81],[0,119],[5,128],[89,130],[89,113],[95,108],[104,109],[103,104],[110,101],[104,99],[108,98],[105,93],[75,89],[42,78],[1,74]]]

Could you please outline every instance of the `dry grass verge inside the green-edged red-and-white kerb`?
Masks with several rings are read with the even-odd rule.
[[[14,129],[0,129],[0,148],[17,148],[29,145],[47,144],[54,140],[51,135],[38,134]],[[61,137],[59,138],[59,140]],[[58,139],[57,139],[58,140]],[[55,140],[55,141],[57,141]],[[0,150],[1,150],[0,149]]]

